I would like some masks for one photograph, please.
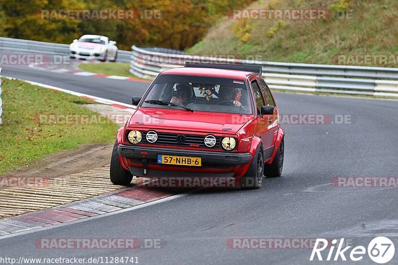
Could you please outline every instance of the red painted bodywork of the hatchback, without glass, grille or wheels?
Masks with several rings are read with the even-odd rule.
[[[223,70],[223,69],[206,69],[206,68],[175,68],[162,72],[160,75],[188,75],[188,76],[208,76],[208,77],[222,77],[232,78],[246,82],[249,89],[251,82],[258,79],[263,79],[260,75],[251,72]],[[156,81],[156,80],[155,80]],[[154,82],[155,82],[154,81]],[[151,85],[152,87],[152,85]],[[268,87],[268,86],[267,86]],[[148,91],[147,91],[148,92]],[[147,94],[147,92],[144,94]],[[250,93],[253,107],[254,96]],[[272,95],[272,94],[271,94]],[[262,95],[263,98],[264,95]],[[274,99],[275,102],[275,99]],[[140,102],[141,103],[141,102]],[[284,130],[280,127],[278,107],[275,103],[273,115],[259,115],[259,114],[233,114],[233,113],[215,113],[195,111],[189,112],[179,109],[164,109],[164,108],[148,108],[137,107],[136,111],[131,115],[123,128],[117,131],[117,145],[118,146],[135,146],[141,149],[159,149],[168,150],[170,152],[179,151],[184,155],[183,150],[187,152],[209,152],[220,155],[233,154],[251,154],[251,159],[245,164],[239,165],[224,165],[223,167],[181,167],[181,166],[165,166],[161,164],[147,165],[148,170],[154,171],[178,171],[184,173],[198,173],[198,174],[229,174],[231,177],[243,177],[247,172],[250,162],[259,145],[263,146],[264,163],[271,164],[275,158],[279,145],[285,135]],[[159,133],[176,133],[176,134],[195,134],[206,136],[212,134],[216,137],[234,137],[237,139],[237,149],[226,152],[222,149],[206,149],[195,146],[182,147],[159,145],[159,144],[145,144],[132,145],[126,140],[126,131],[129,130],[149,131],[155,130]],[[221,139],[221,138],[220,138]],[[161,151],[159,151],[161,153]],[[130,159],[120,155],[120,163],[122,167],[129,170],[142,169],[143,164],[137,163],[139,160],[148,158],[148,152],[142,151],[134,155],[134,159]],[[143,176],[139,176],[143,177]],[[145,176],[153,177],[153,176]]]

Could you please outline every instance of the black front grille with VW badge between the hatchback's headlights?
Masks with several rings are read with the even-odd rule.
[[[142,134],[142,143],[152,144],[146,140],[146,134],[147,134],[147,132],[143,132],[143,134]],[[186,147],[190,147],[191,145],[199,145],[199,147],[201,147],[201,148],[214,148],[214,149],[220,148],[220,137],[215,137],[215,145],[213,147],[208,147],[204,144],[204,138],[206,137],[206,135],[160,133],[160,132],[157,132],[157,134],[158,134],[158,140],[153,144],[186,146]],[[181,137],[182,135],[185,136],[185,141],[183,143],[179,143],[177,141],[177,136],[179,136],[179,139],[181,140],[183,138],[183,137]]]

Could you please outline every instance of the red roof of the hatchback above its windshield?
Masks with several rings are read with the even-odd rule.
[[[192,75],[192,76],[208,76],[208,77],[224,77],[224,78],[236,78],[246,79],[248,76],[255,73],[237,71],[237,70],[226,70],[226,69],[214,69],[214,68],[191,68],[191,67],[178,67],[165,70],[161,75]]]

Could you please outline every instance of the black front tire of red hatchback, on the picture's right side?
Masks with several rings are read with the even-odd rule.
[[[263,146],[257,148],[256,154],[250,163],[244,177],[240,179],[240,187],[243,189],[260,188],[263,184],[264,156]]]

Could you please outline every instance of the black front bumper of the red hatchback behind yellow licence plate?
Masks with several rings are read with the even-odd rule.
[[[153,148],[141,146],[119,145],[117,153],[126,158],[157,159],[159,155],[201,157],[202,163],[219,165],[245,165],[251,161],[250,153],[224,153],[187,149]],[[145,158],[143,158],[143,154]]]

